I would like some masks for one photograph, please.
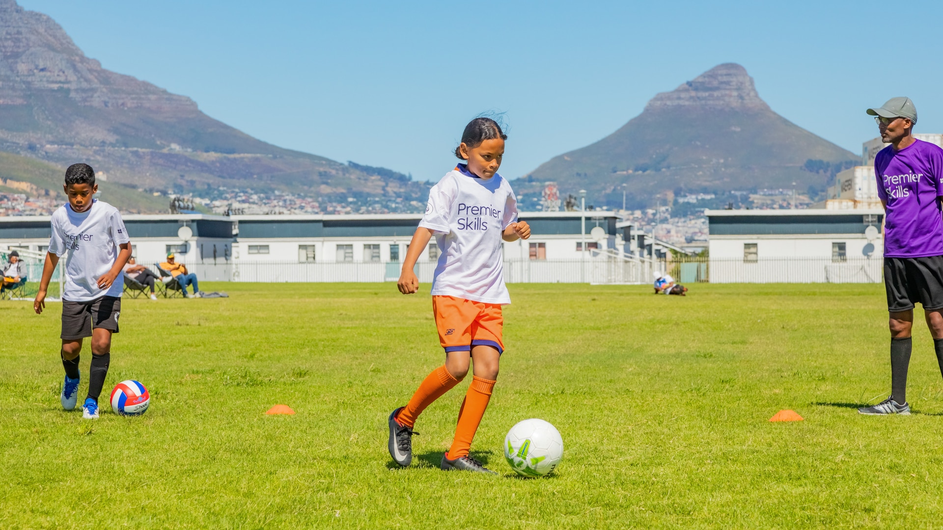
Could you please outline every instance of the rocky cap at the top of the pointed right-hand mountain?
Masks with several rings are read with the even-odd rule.
[[[645,109],[679,107],[769,110],[756,93],[753,77],[733,62],[715,66],[673,91],[655,95]]]

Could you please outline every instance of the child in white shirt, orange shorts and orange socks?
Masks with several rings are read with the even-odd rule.
[[[455,156],[468,160],[445,174],[429,190],[425,216],[409,243],[398,288],[419,290],[416,260],[435,236],[438,266],[432,283],[432,307],[445,365],[426,376],[406,404],[389,414],[389,455],[401,466],[412,462],[413,425],[426,406],[454,388],[474,361],[472,384],[458,411],[455,439],[442,455],[442,470],[494,473],[469,455],[472,439],[497,382],[504,352],[501,306],[510,304],[502,272],[502,240],[530,237],[530,226],[518,221],[517,199],[497,174],[507,136],[488,118],[465,127]]]

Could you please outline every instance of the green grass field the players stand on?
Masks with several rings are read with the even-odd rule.
[[[423,414],[398,469],[387,416],[443,359],[427,295],[392,284],[216,284],[124,300],[100,420],[58,403],[59,306],[0,303],[2,528],[931,527],[943,380],[915,325],[910,417],[889,390],[880,285],[509,286],[502,373],[472,453],[441,472],[471,377]],[[428,292],[428,286],[423,286]],[[918,319],[922,319],[918,315]],[[84,398],[89,350],[82,356]],[[275,404],[294,416],[266,416]],[[803,422],[770,423],[791,408]],[[564,460],[522,479],[502,441],[553,422]]]

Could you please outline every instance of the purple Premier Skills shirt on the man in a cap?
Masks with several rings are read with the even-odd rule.
[[[887,203],[885,257],[943,256],[943,149],[914,141],[874,159],[878,195]]]

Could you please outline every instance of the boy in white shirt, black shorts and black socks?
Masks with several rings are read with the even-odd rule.
[[[124,285],[122,267],[131,257],[131,243],[118,209],[93,198],[98,185],[91,166],[69,166],[63,189],[69,203],[53,213],[49,252],[33,309],[37,314],[42,313],[49,280],[59,257],[65,256],[62,348],[59,351],[65,381],[59,400],[62,408],[75,408],[79,352],[82,340],[91,337],[89,394],[82,406],[82,417],[96,419],[98,396],[105,385],[111,360],[111,334],[118,333]]]

